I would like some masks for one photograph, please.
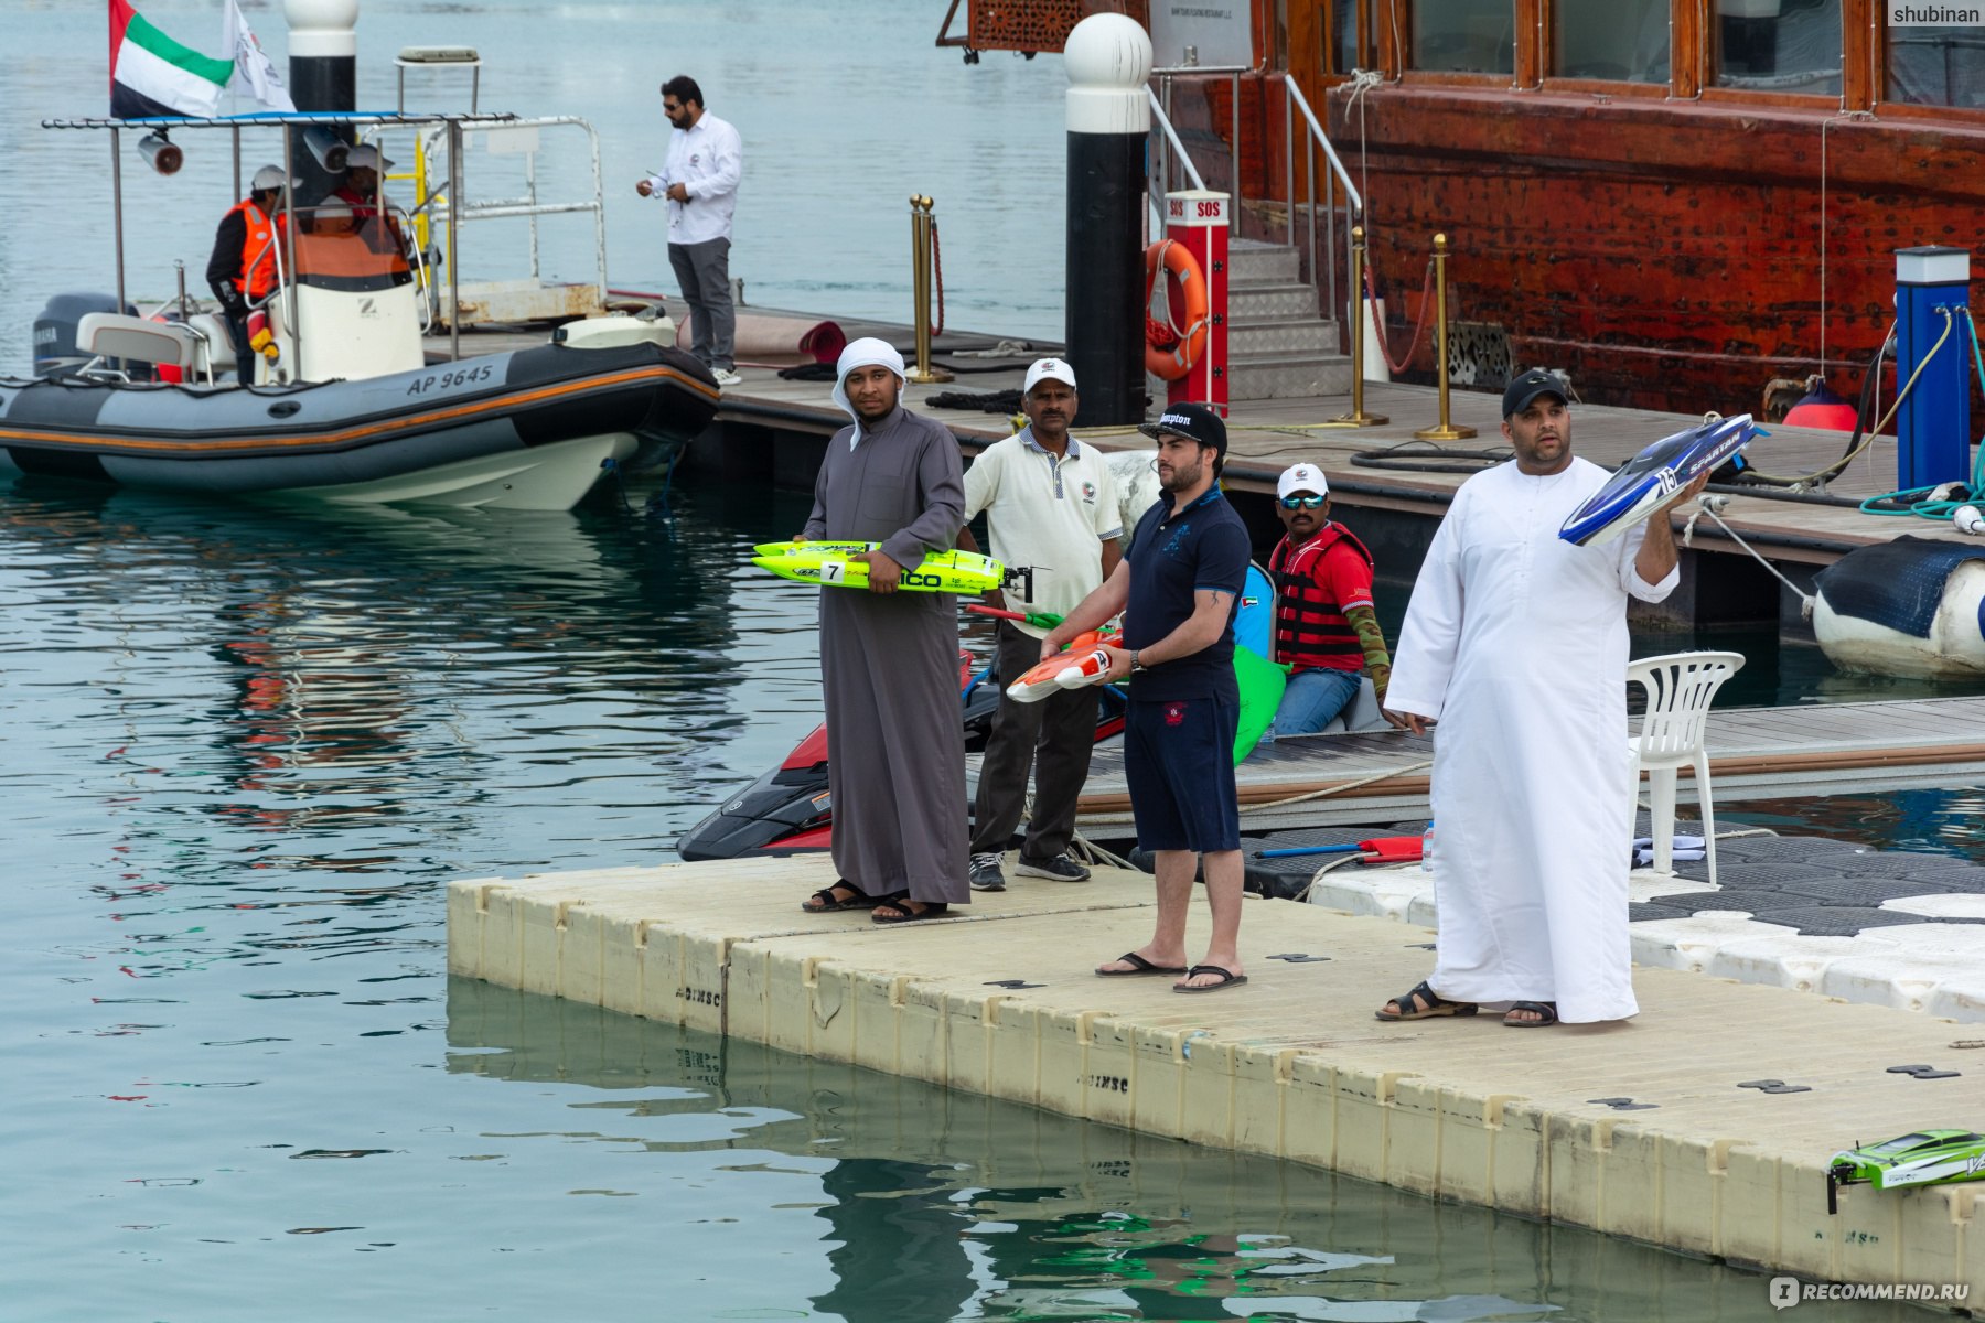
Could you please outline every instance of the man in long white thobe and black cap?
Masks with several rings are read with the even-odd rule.
[[[1515,460],[1461,484],[1413,583],[1388,716],[1435,720],[1433,974],[1380,1020],[1503,1023],[1626,1020],[1626,662],[1630,597],[1661,601],[1679,573],[1667,512],[1606,545],[1558,538],[1608,478],[1572,456],[1564,387],[1530,371],[1503,393]]]

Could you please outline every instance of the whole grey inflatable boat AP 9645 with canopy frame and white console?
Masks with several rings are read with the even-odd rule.
[[[46,121],[64,129],[427,131],[508,125],[490,115],[250,115]],[[177,157],[175,165],[177,169]],[[161,167],[163,171],[163,167]],[[113,180],[119,179],[113,171]],[[274,192],[286,196],[286,188]],[[236,337],[210,303],[137,315],[119,290],[62,296],[36,321],[36,379],[0,379],[0,474],[46,474],[214,496],[570,510],[617,464],[669,458],[717,413],[715,377],[675,325],[625,315],[558,327],[544,343],[431,361],[429,256],[413,218],[377,194],[280,206],[244,270],[268,264]],[[459,252],[455,216],[447,246]],[[443,307],[459,307],[455,278]],[[246,363],[236,361],[244,345]],[[67,353],[60,351],[67,349]]]

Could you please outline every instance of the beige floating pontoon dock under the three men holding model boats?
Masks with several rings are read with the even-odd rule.
[[[1147,938],[1141,875],[907,928],[802,914],[832,877],[814,857],[459,881],[449,970],[1812,1281],[1985,1299],[1985,1186],[1856,1186],[1826,1210],[1836,1148],[1985,1121],[1975,1025],[1667,968],[1636,972],[1628,1023],[1382,1023],[1427,972],[1423,928],[1251,901],[1251,982],[1187,998],[1090,974]]]

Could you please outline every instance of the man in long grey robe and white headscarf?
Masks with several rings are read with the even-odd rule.
[[[959,605],[901,593],[905,565],[949,551],[965,524],[957,438],[901,407],[903,355],[881,339],[842,351],[834,403],[854,426],[828,442],[808,541],[873,541],[867,591],[820,589],[820,680],[840,881],[800,906],[871,910],[879,924],[971,901]]]

